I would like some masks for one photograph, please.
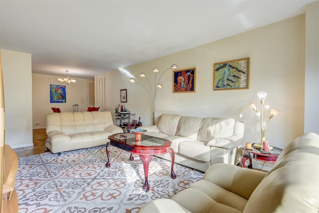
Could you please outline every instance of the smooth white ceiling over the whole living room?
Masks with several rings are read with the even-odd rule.
[[[0,0],[0,48],[32,73],[93,76],[305,12],[316,0]]]

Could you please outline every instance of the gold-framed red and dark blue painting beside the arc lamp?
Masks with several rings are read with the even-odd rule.
[[[173,93],[195,92],[196,68],[173,71]]]

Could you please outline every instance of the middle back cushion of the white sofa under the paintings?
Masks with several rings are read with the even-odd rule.
[[[201,121],[202,118],[200,117],[182,116],[179,119],[175,135],[197,140],[198,130]]]

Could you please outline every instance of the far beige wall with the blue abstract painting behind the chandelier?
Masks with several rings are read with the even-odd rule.
[[[61,112],[73,112],[72,105],[74,104],[79,105],[78,112],[86,111],[88,108],[88,80],[81,78],[74,78],[75,84],[66,85],[66,103],[50,103],[50,84],[61,84],[57,77],[32,74],[33,129],[45,128],[44,115],[52,113],[51,107],[59,107]],[[36,125],[36,122],[40,124]]]

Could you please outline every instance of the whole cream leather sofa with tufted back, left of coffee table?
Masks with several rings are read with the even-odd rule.
[[[52,153],[105,145],[110,135],[123,132],[108,111],[48,113],[45,124],[45,149]]]

